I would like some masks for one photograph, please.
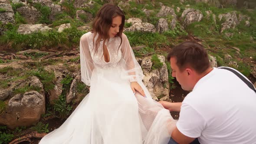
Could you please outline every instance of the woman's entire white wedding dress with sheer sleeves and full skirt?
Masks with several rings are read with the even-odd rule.
[[[102,41],[95,53],[93,38],[89,32],[80,41],[82,82],[90,85],[90,93],[39,144],[167,144],[176,121],[142,83],[141,67],[125,34],[122,43],[115,37],[105,44],[109,62],[102,57]],[[146,98],[134,95],[130,81],[141,85]]]

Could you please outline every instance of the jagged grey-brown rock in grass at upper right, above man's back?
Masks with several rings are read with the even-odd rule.
[[[225,22],[221,24],[222,28],[221,28],[221,33],[225,30],[225,29],[234,29],[236,27],[236,25],[239,23],[239,21],[237,20],[236,17],[236,12],[233,13],[226,13],[226,14],[220,14],[219,16],[219,20],[221,21],[222,18],[225,18]]]

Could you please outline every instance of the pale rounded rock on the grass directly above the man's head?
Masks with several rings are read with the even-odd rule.
[[[184,26],[188,26],[193,22],[199,22],[203,19],[203,14],[200,10],[194,10],[192,8],[186,9],[181,15],[181,20],[183,21]]]

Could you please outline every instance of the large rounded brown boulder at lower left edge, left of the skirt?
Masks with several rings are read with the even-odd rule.
[[[26,86],[30,86],[31,89],[24,94],[15,94],[17,88]],[[33,90],[34,88],[36,88],[36,91]],[[0,116],[0,124],[13,129],[37,123],[46,109],[45,93],[41,81],[36,76],[30,76],[27,79],[13,82],[7,89],[9,95],[3,100],[8,101],[8,105]],[[0,92],[2,91],[0,90]],[[2,94],[0,94],[0,97]]]

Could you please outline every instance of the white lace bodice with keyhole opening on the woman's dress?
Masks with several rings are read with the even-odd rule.
[[[103,41],[100,42],[98,52],[95,53],[95,49],[93,49],[93,33],[91,33],[89,40],[89,49],[91,52],[92,60],[98,68],[101,69],[111,69],[118,66],[119,61],[121,59],[121,48],[118,49],[121,39],[119,37],[111,38],[108,42],[105,43],[108,49],[109,53],[109,62],[105,62],[104,56],[103,56]],[[95,37],[95,41],[97,39],[97,36]]]

